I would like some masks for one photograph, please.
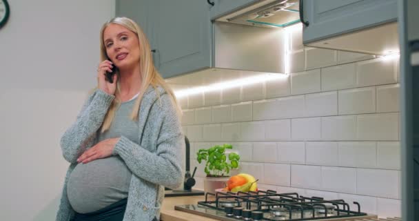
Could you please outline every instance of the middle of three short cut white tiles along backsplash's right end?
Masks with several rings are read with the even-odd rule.
[[[377,142],[377,166],[400,170],[400,142]]]

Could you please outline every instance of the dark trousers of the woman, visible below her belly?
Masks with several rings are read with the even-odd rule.
[[[122,221],[127,198],[92,213],[76,213],[72,221]]]

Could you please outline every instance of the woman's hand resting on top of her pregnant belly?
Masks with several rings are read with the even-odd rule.
[[[115,144],[119,142],[120,137],[111,138],[103,140],[96,145],[92,146],[92,148],[85,151],[77,162],[82,162],[83,164],[87,164],[93,160],[106,158],[112,155],[112,151],[114,151]]]

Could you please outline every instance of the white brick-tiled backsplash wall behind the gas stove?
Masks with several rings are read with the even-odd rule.
[[[181,99],[196,188],[197,149],[227,142],[261,189],[400,216],[397,57],[305,48],[300,31],[289,35],[290,77]]]

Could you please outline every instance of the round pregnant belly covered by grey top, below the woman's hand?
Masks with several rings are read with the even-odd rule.
[[[119,156],[77,164],[67,183],[74,211],[91,213],[128,196],[131,171]]]

